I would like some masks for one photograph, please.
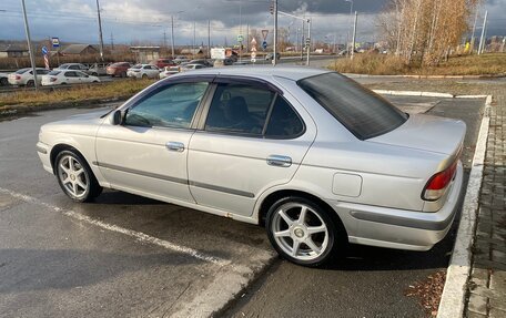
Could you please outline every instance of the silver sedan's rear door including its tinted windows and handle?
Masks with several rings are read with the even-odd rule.
[[[214,89],[190,142],[190,191],[200,205],[250,216],[259,195],[290,182],[316,130],[265,82],[219,78]]]

